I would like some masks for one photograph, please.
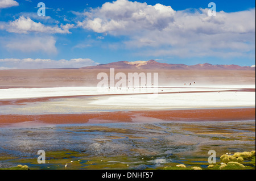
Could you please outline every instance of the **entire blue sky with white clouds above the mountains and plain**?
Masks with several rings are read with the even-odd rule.
[[[0,70],[152,59],[255,65],[255,1],[0,0]]]

